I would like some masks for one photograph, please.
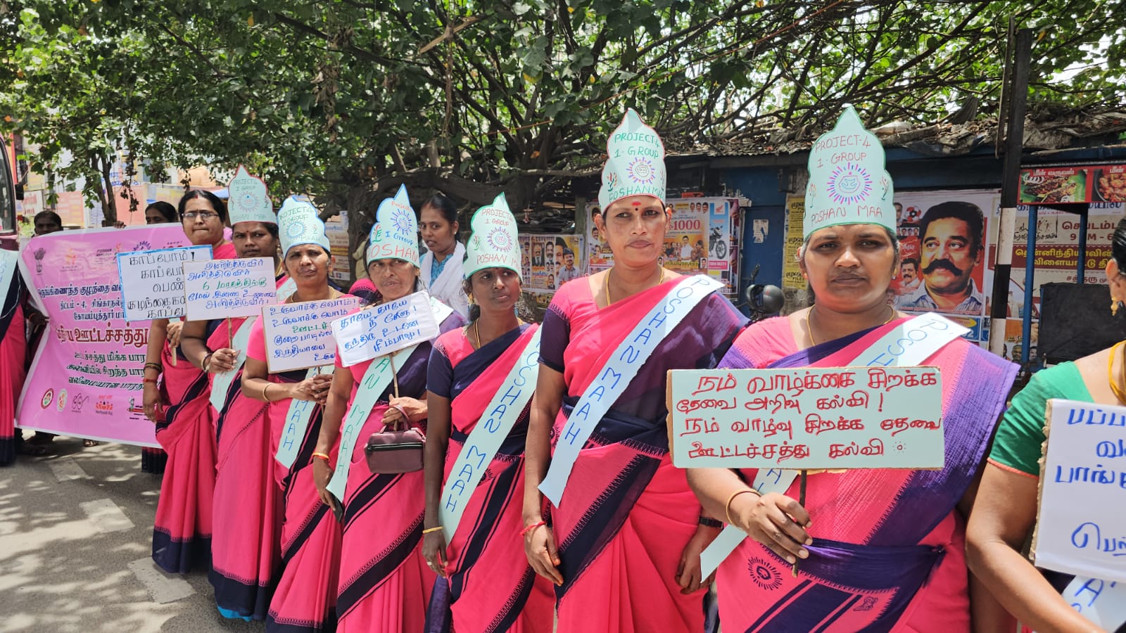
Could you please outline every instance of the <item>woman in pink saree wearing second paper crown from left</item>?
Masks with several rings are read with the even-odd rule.
[[[287,304],[338,298],[329,285],[332,256],[324,222],[307,200],[289,197],[278,211],[282,265],[296,289]],[[319,632],[336,624],[336,586],[340,559],[340,524],[321,505],[313,485],[313,443],[332,377],[320,368],[279,374],[269,371],[262,319],[250,329],[242,393],[269,403],[270,447],[275,479],[285,503],[282,523],[282,571],[269,603],[267,631]],[[288,422],[296,421],[291,437]],[[286,427],[286,428],[284,428]],[[330,451],[331,452],[331,447]],[[287,455],[283,458],[283,454]],[[274,456],[277,455],[277,460]]]

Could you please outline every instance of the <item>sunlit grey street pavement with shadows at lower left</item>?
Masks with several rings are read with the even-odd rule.
[[[159,491],[135,446],[59,437],[0,469],[0,633],[263,631],[220,617],[206,573],[152,564]]]

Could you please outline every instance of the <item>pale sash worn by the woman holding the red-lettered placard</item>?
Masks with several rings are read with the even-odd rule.
[[[933,356],[939,349],[965,336],[969,330],[949,319],[928,312],[908,319],[879,337],[848,364],[850,367],[912,367]],[[761,494],[789,490],[799,471],[789,469],[759,469],[751,488]],[[727,525],[703,552],[700,574],[712,576],[748,534]]]

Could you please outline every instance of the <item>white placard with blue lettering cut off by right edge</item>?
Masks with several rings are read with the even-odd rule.
[[[1033,561],[1126,581],[1126,407],[1048,400]]]

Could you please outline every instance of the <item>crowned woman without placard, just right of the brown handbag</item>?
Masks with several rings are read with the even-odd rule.
[[[530,573],[512,537],[524,527],[518,499],[539,328],[512,310],[520,243],[503,194],[471,224],[465,291],[479,315],[435,341],[427,373],[422,553],[444,577],[427,630],[448,631],[452,615],[455,631],[551,633],[551,585]]]

